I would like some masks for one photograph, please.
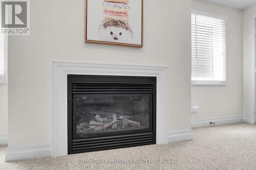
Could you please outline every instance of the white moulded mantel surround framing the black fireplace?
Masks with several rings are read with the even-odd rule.
[[[167,143],[165,66],[99,64],[52,61],[51,155],[68,154],[67,75],[157,77],[157,144]]]

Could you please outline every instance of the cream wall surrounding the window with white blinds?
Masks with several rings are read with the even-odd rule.
[[[192,120],[243,114],[243,13],[202,1],[193,0],[192,9],[228,17],[226,86],[192,86],[191,102],[200,107]]]

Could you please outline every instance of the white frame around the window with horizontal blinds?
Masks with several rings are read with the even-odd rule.
[[[191,13],[224,19],[224,20],[226,20],[226,22],[228,21],[228,17],[223,16],[223,15],[217,15],[217,14],[196,11],[196,10],[191,10]],[[227,32],[227,30],[226,30],[226,32]],[[225,81],[207,81],[207,80],[192,81],[191,80],[192,86],[226,86],[226,83],[227,83],[227,55],[226,55]]]

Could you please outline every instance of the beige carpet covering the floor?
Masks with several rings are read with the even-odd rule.
[[[194,140],[91,152],[57,158],[4,162],[0,169],[256,169],[256,125],[230,124],[194,129]],[[156,160],[157,163],[77,163],[77,160]],[[179,163],[159,163],[159,159]]]

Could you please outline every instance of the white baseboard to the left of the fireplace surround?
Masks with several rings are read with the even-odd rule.
[[[50,143],[35,144],[29,146],[8,147],[5,161],[15,161],[32,158],[44,158],[51,156]]]

